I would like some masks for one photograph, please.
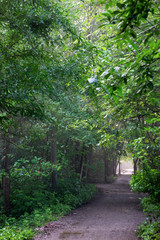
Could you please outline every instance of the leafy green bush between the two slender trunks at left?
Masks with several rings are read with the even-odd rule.
[[[19,217],[44,205],[58,203],[48,184],[51,171],[51,163],[37,157],[32,160],[19,159],[14,163],[10,176],[12,216]]]

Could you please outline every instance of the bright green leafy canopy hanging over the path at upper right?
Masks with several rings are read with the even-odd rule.
[[[114,108],[118,119],[133,122],[144,133],[152,118],[158,122],[160,109],[158,2],[113,1],[106,7],[104,21],[113,26],[113,54],[117,51],[117,55],[104,74],[103,85],[110,93],[108,99],[119,103]],[[110,46],[110,37],[106,44]]]

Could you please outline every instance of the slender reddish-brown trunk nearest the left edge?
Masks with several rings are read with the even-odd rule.
[[[6,211],[6,215],[10,215],[10,178],[9,178],[9,151],[10,151],[10,146],[9,146],[9,141],[6,138],[5,139],[5,177],[4,177],[4,209]]]

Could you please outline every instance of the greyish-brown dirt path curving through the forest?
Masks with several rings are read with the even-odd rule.
[[[139,195],[129,189],[130,176],[113,184],[98,184],[99,193],[90,203],[58,222],[46,226],[36,240],[136,240],[137,225],[144,220],[138,209]]]

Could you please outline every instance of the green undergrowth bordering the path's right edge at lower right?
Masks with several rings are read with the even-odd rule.
[[[146,220],[138,227],[138,238],[160,240],[160,172],[148,167],[132,176],[130,183],[133,190],[148,195],[141,200]]]

